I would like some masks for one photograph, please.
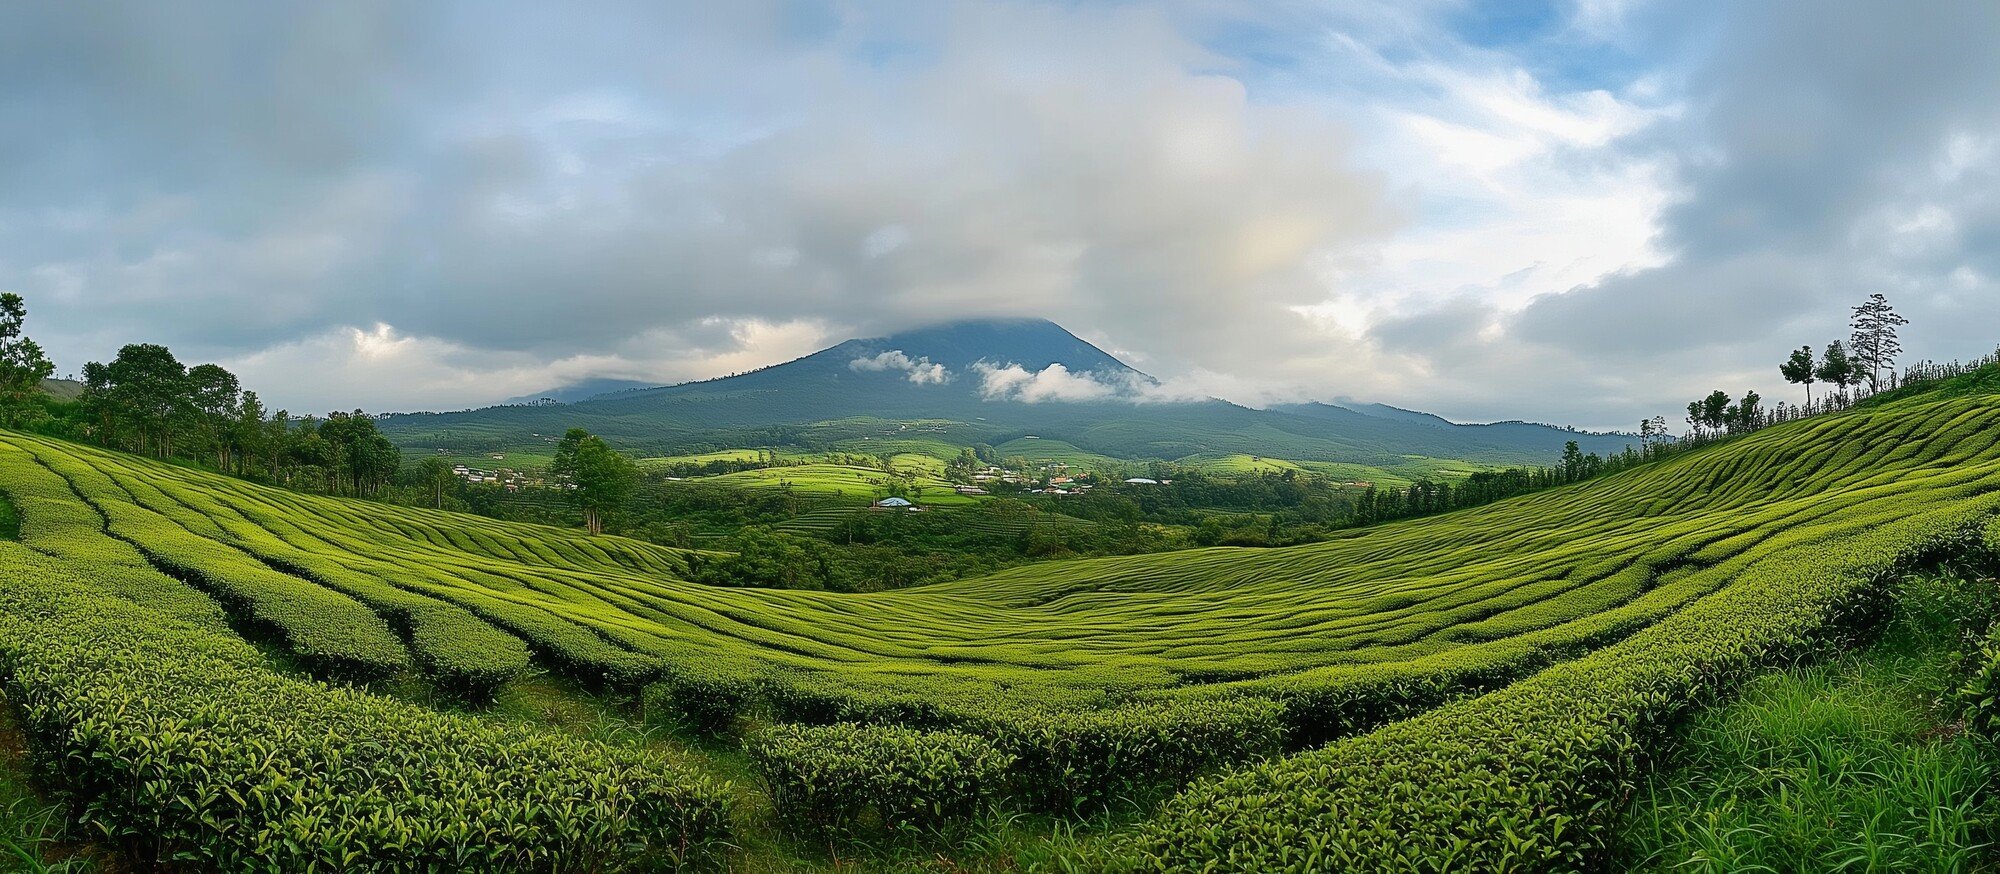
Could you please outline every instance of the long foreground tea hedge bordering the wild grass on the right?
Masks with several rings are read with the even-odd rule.
[[[1200,784],[1100,870],[1592,870],[1646,750],[1698,702],[1880,618],[1882,580],[2000,496],[1774,552],[1666,622],[1488,696]]]

